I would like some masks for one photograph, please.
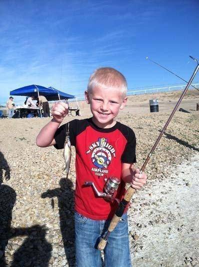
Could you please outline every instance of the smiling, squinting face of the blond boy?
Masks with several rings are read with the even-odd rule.
[[[127,101],[119,89],[94,87],[88,94],[85,91],[85,101],[90,104],[92,120],[100,128],[114,126],[114,118],[119,109],[123,109]]]

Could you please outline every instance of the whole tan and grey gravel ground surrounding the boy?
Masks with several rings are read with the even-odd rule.
[[[147,184],[133,196],[128,214],[134,266],[199,266],[199,113],[193,110],[176,112],[145,169]],[[132,117],[129,111],[118,121],[133,128],[141,167],[170,112]],[[62,151],[35,145],[48,121],[0,120],[0,266],[74,266],[75,151],[66,179]]]

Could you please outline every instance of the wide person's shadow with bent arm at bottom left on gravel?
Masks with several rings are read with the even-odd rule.
[[[10,237],[27,235],[15,251],[11,267],[40,266],[47,267],[51,256],[52,245],[45,239],[44,225],[33,225],[27,228],[13,228]]]

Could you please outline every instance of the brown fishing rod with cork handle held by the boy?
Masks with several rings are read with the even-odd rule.
[[[192,57],[191,57],[191,58],[192,58]],[[199,63],[198,63],[198,61],[197,61],[196,59],[194,59],[194,58],[192,58],[192,59],[195,60],[195,61],[197,62],[197,66],[196,66],[196,68],[195,68],[195,70],[194,70],[194,72],[193,72],[193,74],[192,74],[190,80],[188,81],[188,84],[186,85],[186,87],[185,87],[183,93],[181,94],[181,96],[180,96],[180,98],[179,98],[177,104],[175,105],[173,111],[171,112],[171,114],[170,114],[170,116],[169,116],[167,122],[165,123],[163,129],[161,130],[161,132],[160,132],[160,134],[159,134],[157,140],[155,141],[155,143],[154,143],[152,149],[150,150],[150,152],[149,152],[147,158],[145,159],[145,161],[144,161],[144,163],[143,163],[143,165],[142,165],[142,167],[141,167],[141,169],[140,169],[140,173],[142,173],[142,172],[144,171],[144,169],[145,169],[145,167],[146,167],[146,165],[147,165],[147,163],[148,163],[150,157],[152,156],[152,153],[154,152],[154,150],[155,150],[157,144],[159,143],[159,140],[160,140],[161,136],[162,136],[163,133],[165,132],[166,127],[168,126],[170,120],[172,119],[172,117],[173,117],[175,111],[177,110],[179,104],[180,104],[181,101],[182,101],[182,98],[184,97],[186,91],[188,90],[188,87],[190,86],[190,84],[191,84],[193,78],[195,77],[195,75],[196,75],[196,73],[197,73],[197,71],[198,71],[198,69],[199,69]],[[120,202],[118,208],[117,208],[116,211],[115,211],[114,216],[112,217],[112,219],[111,219],[111,221],[110,221],[110,224],[109,224],[109,226],[108,226],[107,233],[105,234],[105,236],[104,236],[104,237],[100,240],[100,242],[98,243],[98,246],[97,246],[97,247],[98,247],[99,250],[103,250],[103,249],[104,249],[104,247],[105,247],[105,245],[106,245],[106,243],[107,243],[107,239],[108,239],[109,234],[114,230],[114,228],[116,227],[117,223],[119,222],[119,220],[120,220],[120,218],[121,218],[121,216],[122,216],[122,214],[123,214],[123,212],[124,212],[124,210],[125,210],[125,207],[126,207],[126,205],[129,203],[129,201],[130,201],[132,195],[134,194],[134,192],[135,192],[135,189],[132,188],[132,186],[130,185],[130,186],[128,187],[128,189],[126,190],[125,195],[123,196],[123,199],[121,200],[121,202]]]

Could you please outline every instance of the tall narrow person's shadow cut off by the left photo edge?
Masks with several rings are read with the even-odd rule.
[[[10,233],[10,224],[12,219],[12,208],[16,200],[15,191],[8,185],[2,184],[3,179],[10,179],[10,168],[0,152],[0,266],[6,266],[5,247],[7,245]]]

